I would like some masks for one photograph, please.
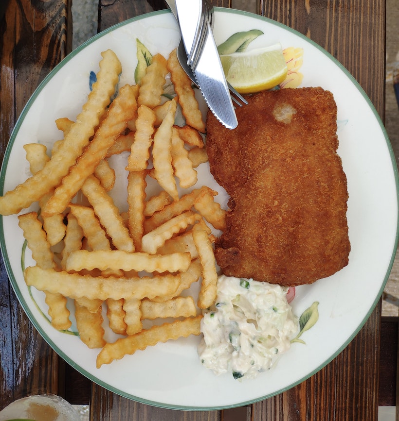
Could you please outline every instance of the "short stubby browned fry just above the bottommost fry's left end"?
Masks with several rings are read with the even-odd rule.
[[[76,327],[80,339],[89,348],[102,348],[106,344],[101,311],[100,307],[95,313],[92,313],[75,301]]]

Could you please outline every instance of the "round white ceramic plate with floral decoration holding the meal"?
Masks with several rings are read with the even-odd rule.
[[[303,86],[330,90],[338,105],[339,154],[348,181],[348,225],[351,252],[347,267],[311,286],[297,287],[292,303],[298,316],[313,302],[319,320],[294,343],[278,363],[255,380],[217,377],[200,364],[198,337],[158,344],[96,369],[98,351],[78,337],[55,331],[43,317],[26,287],[21,271],[23,236],[17,216],[1,219],[4,261],[24,310],[40,334],[74,368],[94,382],[139,402],[168,408],[216,409],[270,397],[314,374],[357,334],[378,302],[388,278],[397,245],[397,170],[381,121],[371,102],[348,72],[305,36],[271,20],[228,9],[216,9],[215,38],[223,42],[233,32],[260,29],[251,48],[280,42],[283,48],[303,49]],[[165,57],[176,47],[179,32],[166,11],[123,22],[95,36],[73,51],[38,87],[23,110],[12,134],[3,167],[3,191],[29,175],[22,145],[42,142],[51,146],[60,136],[54,120],[75,118],[89,93],[90,72],[98,70],[100,52],[114,50],[123,66],[121,84],[132,83],[136,66],[136,38],[153,54]],[[215,187],[207,165],[200,184]],[[220,188],[219,188],[220,190]],[[226,196],[221,196],[226,201]],[[34,264],[27,256],[26,265]],[[32,288],[34,289],[34,288]],[[39,307],[46,307],[33,291]]]

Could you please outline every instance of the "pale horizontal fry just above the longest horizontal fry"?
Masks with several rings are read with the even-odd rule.
[[[125,271],[177,272],[190,266],[190,253],[148,254],[127,253],[122,250],[77,250],[69,254],[67,272],[82,269],[122,269]]]

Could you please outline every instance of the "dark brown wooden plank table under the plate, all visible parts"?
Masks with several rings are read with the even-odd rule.
[[[227,0],[213,3],[231,7]],[[9,0],[0,17],[1,158],[18,115],[37,84],[71,51],[71,4],[71,0]],[[98,28],[102,31],[163,8],[159,0],[100,0]],[[359,81],[384,118],[385,1],[260,0],[259,13],[306,34],[329,51]],[[0,409],[36,392],[62,395],[74,404],[90,402],[91,420],[101,421],[375,421],[379,401],[395,405],[397,319],[383,320],[381,328],[380,304],[348,347],[302,384],[244,408],[183,412],[121,398],[73,370],[25,316],[2,261],[0,272]],[[383,375],[381,370],[385,370]]]

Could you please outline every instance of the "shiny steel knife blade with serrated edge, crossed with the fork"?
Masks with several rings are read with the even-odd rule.
[[[191,51],[200,20],[202,1],[175,0],[175,6],[184,48],[186,52]],[[193,68],[194,76],[205,102],[215,117],[225,127],[234,129],[238,125],[235,108],[207,19],[205,25],[204,47],[197,66]]]

